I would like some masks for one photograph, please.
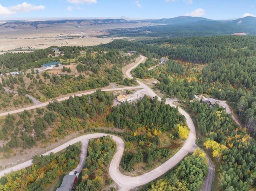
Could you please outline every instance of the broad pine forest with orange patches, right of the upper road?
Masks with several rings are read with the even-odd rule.
[[[146,61],[132,73],[142,79],[158,79],[158,89],[179,100],[202,93],[227,100],[249,130],[255,127],[256,110],[252,108],[256,102],[256,37],[116,40],[101,46],[134,49],[149,58],[167,57],[165,65],[147,71],[151,64]]]

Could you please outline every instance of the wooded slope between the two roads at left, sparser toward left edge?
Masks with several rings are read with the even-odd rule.
[[[8,114],[0,122],[0,140],[7,141],[0,147],[0,152],[8,156],[13,149],[32,148],[37,145],[36,142],[54,143],[57,138],[65,138],[70,132],[91,126],[96,120],[98,124],[104,125],[104,116],[111,109],[113,99],[112,94],[98,90],[89,96],[70,96],[63,102],[54,101],[47,108],[24,110],[17,115]],[[52,130],[46,134],[48,128]]]

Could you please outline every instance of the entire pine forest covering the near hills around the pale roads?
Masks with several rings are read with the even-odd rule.
[[[158,80],[154,89],[166,97],[177,98],[194,116],[202,146],[212,152],[212,157],[220,166],[216,171],[218,190],[248,191],[256,187],[256,37],[114,40],[95,47],[58,48],[63,51],[59,56],[55,55],[51,47],[33,53],[0,55],[2,111],[8,105],[15,108],[31,105],[32,102],[24,93],[46,102],[60,95],[106,87],[111,82],[135,85],[135,78],[123,79],[121,69],[142,54],[147,59],[132,70],[132,75],[142,80]],[[127,54],[130,50],[137,52]],[[160,63],[162,57],[167,59],[165,63]],[[60,69],[56,67],[58,73],[35,69],[53,61],[61,61],[64,65]],[[20,71],[21,74],[6,75],[11,71]],[[18,91],[18,95],[6,93],[4,88]],[[190,102],[194,95],[202,94],[227,100],[241,126],[235,124],[231,115],[218,105],[212,108],[199,101]],[[160,102],[157,97],[151,99],[144,96],[137,102],[113,106],[114,98],[112,93],[97,90],[91,95],[70,96],[62,102],[53,99],[45,108],[9,114],[0,120],[0,141],[4,143],[0,152],[4,158],[9,158],[14,150],[23,152],[41,144],[58,142],[73,132],[107,131],[124,138],[125,152],[120,168],[122,171],[134,172],[138,165],[147,171],[158,165],[158,162],[162,163],[175,154],[186,140],[188,129],[185,118],[178,113],[178,108],[164,104],[165,98]],[[118,133],[111,130],[114,127],[119,129]],[[102,142],[108,142],[110,146]],[[92,163],[85,163],[78,190],[84,187],[85,190],[100,190],[112,182],[104,177],[103,169],[92,173],[97,166],[104,165],[107,168],[115,148],[112,140],[103,138],[92,142],[91,147],[100,148],[107,159],[102,163],[100,152],[93,153],[93,149],[89,149],[90,158],[93,158],[91,160],[97,163],[93,163],[92,169],[89,169]],[[105,152],[106,148],[109,148],[110,153]],[[63,161],[70,161],[70,166],[75,165],[69,158],[64,159],[63,156],[63,161],[60,161],[55,157],[42,158],[42,161],[47,162],[40,165],[50,166],[49,163],[54,162],[64,165]],[[34,159],[35,164],[39,161],[40,157]],[[54,177],[64,172],[52,171],[51,176],[48,175],[50,180],[42,180],[45,182],[42,185],[48,185]],[[196,150],[144,190],[199,190],[206,174],[205,156]],[[8,177],[1,178],[0,188],[9,186],[8,181],[11,181]],[[28,181],[26,184],[31,190],[44,190],[40,183]]]

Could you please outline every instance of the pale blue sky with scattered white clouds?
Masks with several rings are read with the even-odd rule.
[[[0,0],[0,20],[199,16],[213,20],[256,17],[256,0]]]

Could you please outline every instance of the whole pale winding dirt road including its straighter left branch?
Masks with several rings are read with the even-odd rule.
[[[144,60],[144,56],[140,56],[140,57],[142,59],[126,72],[126,75],[128,77],[131,78],[130,71]],[[143,88],[143,89],[145,89],[146,94],[148,96],[150,96],[150,97],[156,96],[156,94],[152,91],[152,89],[150,89],[150,87],[146,86],[145,84],[141,83],[140,81],[137,81],[137,82],[140,84],[138,87],[114,88],[114,89],[106,89],[104,91],[116,91],[116,90],[121,90],[121,89]],[[81,94],[77,94],[77,96],[87,95],[87,94],[91,94],[93,92],[94,91],[91,91],[88,93],[81,93]],[[60,99],[58,99],[58,101],[66,100],[68,98],[69,98],[69,96],[60,98]],[[160,100],[159,97],[158,97],[158,100]],[[173,102],[173,100],[166,100],[166,104],[170,104],[171,106],[174,106],[172,104],[172,102]],[[10,112],[2,113],[2,114],[0,114],[0,116],[4,116],[8,113],[12,114],[12,113],[17,113],[17,112],[22,112],[25,109],[29,110],[29,109],[33,109],[36,107],[43,107],[43,106],[46,106],[47,104],[48,103],[42,103],[37,106],[31,106],[28,108],[22,108],[22,109],[10,111]],[[181,108],[178,108],[178,110],[182,115],[184,115],[186,117],[188,127],[190,128],[190,133],[189,133],[188,139],[186,140],[184,146],[182,146],[182,148],[172,158],[168,159],[168,161],[166,161],[159,167],[157,167],[157,168],[153,169],[152,171],[145,173],[143,175],[140,175],[137,177],[129,177],[129,176],[123,175],[119,171],[119,164],[122,159],[123,152],[124,152],[124,141],[122,140],[122,138],[120,138],[118,136],[110,135],[113,138],[113,140],[116,142],[117,151],[116,151],[116,154],[114,155],[114,158],[112,159],[112,161],[110,163],[109,173],[110,173],[111,178],[118,184],[120,191],[128,191],[132,188],[138,187],[140,185],[144,185],[144,184],[156,179],[157,177],[159,177],[160,175],[163,175],[168,170],[170,170],[172,167],[174,167],[188,153],[193,152],[197,148],[197,146],[195,144],[196,131],[195,131],[194,123],[192,122],[192,119],[190,118],[188,113],[186,113]],[[108,134],[95,133],[95,134],[88,134],[88,135],[80,136],[78,138],[75,138],[73,140],[66,142],[65,144],[62,144],[61,146],[58,146],[57,148],[55,148],[53,150],[50,150],[50,151],[44,153],[43,155],[48,155],[51,152],[56,153],[60,150],[63,150],[64,148],[68,147],[71,144],[74,144],[77,142],[82,142],[82,145],[83,145],[82,152],[84,153],[82,155],[86,156],[86,154],[85,154],[85,152],[87,150],[86,142],[88,143],[89,139],[98,138],[98,137],[105,136],[105,135],[108,135]],[[74,169],[74,171],[77,170],[78,172],[80,172],[82,170],[82,165],[84,163],[83,160],[84,159],[80,160],[78,167],[76,169]],[[14,167],[10,167],[8,169],[4,169],[4,170],[0,171],[0,177],[3,176],[5,173],[8,173],[12,170],[16,171],[16,170],[22,169],[24,167],[28,167],[30,165],[32,165],[32,160],[26,161],[24,163],[18,164]]]

